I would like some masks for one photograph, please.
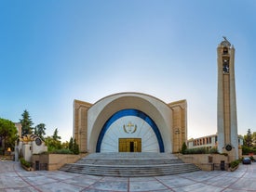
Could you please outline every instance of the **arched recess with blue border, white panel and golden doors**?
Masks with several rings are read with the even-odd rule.
[[[138,109],[122,109],[101,128],[96,152],[164,152],[155,122]]]

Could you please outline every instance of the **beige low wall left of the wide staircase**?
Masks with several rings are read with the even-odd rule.
[[[32,157],[32,164],[35,171],[55,171],[59,170],[64,164],[74,163],[77,160],[85,157],[86,155],[87,154],[34,154]]]

